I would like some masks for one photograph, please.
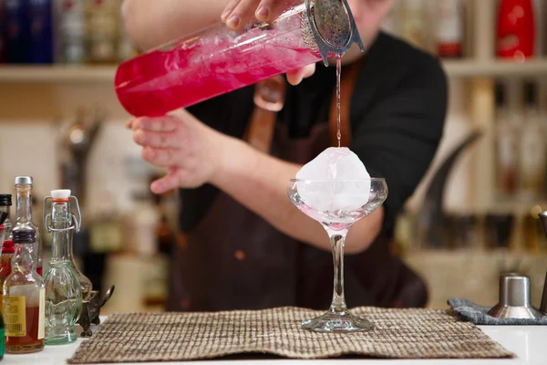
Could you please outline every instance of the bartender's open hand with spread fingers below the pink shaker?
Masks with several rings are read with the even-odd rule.
[[[142,158],[167,169],[150,186],[153,193],[195,188],[212,180],[229,137],[195,119],[186,110],[157,118],[129,120],[133,140],[142,146]]]

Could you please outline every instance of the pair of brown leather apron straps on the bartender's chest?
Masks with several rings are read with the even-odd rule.
[[[361,57],[356,62],[344,69],[341,78],[340,90],[340,131],[342,132],[342,146],[349,146],[351,141],[351,129],[349,127],[351,95],[353,93],[356,78],[363,64],[365,57]],[[259,81],[254,90],[254,110],[251,115],[251,121],[243,135],[243,140],[247,141],[258,151],[269,153],[274,138],[274,126],[277,119],[277,112],[284,107],[285,83],[284,78],[276,76]],[[336,90],[331,100],[329,114],[329,134],[333,146],[338,145],[336,138],[337,129],[337,99]]]

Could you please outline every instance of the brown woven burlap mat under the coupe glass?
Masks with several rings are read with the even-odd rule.
[[[323,312],[304,308],[112,315],[68,363],[202,360],[243,353],[294,359],[512,357],[480,328],[444,309],[352,311],[371,319],[376,328],[344,334],[310,332],[300,323]]]

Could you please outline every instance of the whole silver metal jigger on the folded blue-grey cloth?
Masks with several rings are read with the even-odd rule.
[[[488,312],[496,318],[542,318],[530,301],[530,277],[515,273],[500,276],[500,302]]]

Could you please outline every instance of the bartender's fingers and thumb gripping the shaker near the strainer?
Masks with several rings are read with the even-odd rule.
[[[286,0],[230,0],[222,11],[222,22],[232,30],[241,29],[255,17],[261,22],[273,20],[279,13],[279,6]],[[287,72],[287,81],[299,84],[304,78],[314,75],[315,64]]]

